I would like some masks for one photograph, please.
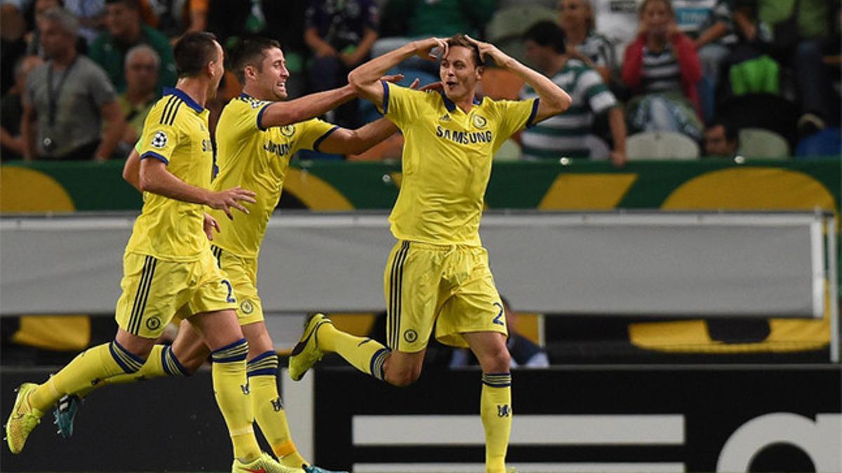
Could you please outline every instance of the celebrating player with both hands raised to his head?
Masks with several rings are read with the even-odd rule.
[[[435,48],[441,51],[443,93],[379,80],[411,56],[434,58]],[[523,78],[539,98],[478,100],[474,89],[482,77],[483,56]],[[325,316],[313,316],[290,356],[290,376],[301,379],[322,353],[335,352],[379,380],[408,385],[421,373],[435,327],[440,342],[470,347],[482,365],[486,471],[503,473],[512,419],[511,375],[504,308],[478,232],[482,198],[494,151],[517,130],[568,109],[570,97],[493,45],[463,35],[405,45],[357,67],[349,82],[406,137],[401,190],[389,217],[398,242],[384,273],[388,347],[340,332]]]

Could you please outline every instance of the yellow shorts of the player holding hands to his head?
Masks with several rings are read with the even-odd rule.
[[[503,303],[483,247],[397,242],[383,274],[386,343],[404,353],[441,343],[467,347],[466,332],[508,335]]]

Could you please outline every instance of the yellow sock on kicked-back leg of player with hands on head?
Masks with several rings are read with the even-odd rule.
[[[339,353],[354,368],[383,380],[383,362],[390,351],[381,343],[342,332],[328,323],[319,327],[317,340],[323,352]]]

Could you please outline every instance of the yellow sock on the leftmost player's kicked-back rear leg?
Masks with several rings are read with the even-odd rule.
[[[52,376],[43,385],[39,385],[29,402],[41,412],[49,410],[56,401],[66,394],[89,390],[100,380],[114,375],[135,373],[141,369],[143,359],[130,353],[115,340],[103,343],[79,353],[67,366]]]

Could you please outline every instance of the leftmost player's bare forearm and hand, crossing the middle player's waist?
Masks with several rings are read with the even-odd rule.
[[[154,158],[141,159],[140,189],[169,199],[203,204],[211,209],[222,210],[232,220],[234,215],[231,209],[248,214],[248,209],[243,207],[241,202],[256,202],[254,196],[257,195],[240,186],[215,192],[190,185],[170,173],[163,161]]]

